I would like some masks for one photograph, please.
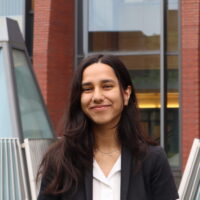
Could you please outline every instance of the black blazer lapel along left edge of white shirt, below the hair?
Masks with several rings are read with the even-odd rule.
[[[86,195],[86,200],[92,200],[92,180],[93,180],[93,173],[92,171],[87,170],[85,173],[85,195]]]

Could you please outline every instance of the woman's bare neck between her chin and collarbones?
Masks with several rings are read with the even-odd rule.
[[[120,150],[121,145],[117,136],[116,128],[95,126],[93,128],[93,134],[95,139],[95,149],[99,149],[103,152]]]

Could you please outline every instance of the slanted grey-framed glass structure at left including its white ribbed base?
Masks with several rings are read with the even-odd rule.
[[[54,138],[19,26],[0,18],[0,200],[36,199],[37,169]]]

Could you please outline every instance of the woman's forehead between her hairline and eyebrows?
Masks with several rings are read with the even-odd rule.
[[[94,63],[92,65],[89,65],[83,71],[82,82],[88,82],[88,81],[93,82],[105,79],[118,81],[114,70],[107,64]]]

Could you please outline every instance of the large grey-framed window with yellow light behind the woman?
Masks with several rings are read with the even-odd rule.
[[[110,53],[126,64],[145,132],[165,148],[173,167],[180,165],[178,3],[86,0],[77,6],[77,62]]]

